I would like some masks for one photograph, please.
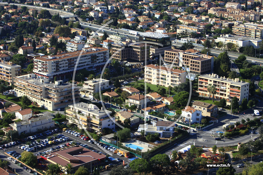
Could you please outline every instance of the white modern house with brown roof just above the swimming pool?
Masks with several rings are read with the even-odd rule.
[[[171,137],[174,134],[174,121],[157,121],[153,125],[139,125],[137,132],[144,130],[145,135],[158,133],[159,137]]]

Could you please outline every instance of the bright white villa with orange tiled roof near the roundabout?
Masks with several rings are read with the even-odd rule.
[[[186,106],[185,109],[182,109],[182,118],[181,120],[186,124],[199,123],[202,119],[202,111],[195,109],[194,107]]]

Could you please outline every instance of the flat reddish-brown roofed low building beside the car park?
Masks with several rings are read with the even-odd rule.
[[[106,158],[104,154],[99,154],[82,146],[72,146],[63,150],[52,151],[40,156],[38,161],[48,161],[52,164],[62,166],[62,171],[66,172],[67,164],[71,164],[74,169],[80,166],[90,169],[90,167],[100,166],[102,160]]]

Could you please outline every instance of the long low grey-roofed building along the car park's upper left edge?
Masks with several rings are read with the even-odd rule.
[[[14,130],[18,131],[19,134],[38,132],[55,127],[54,120],[52,120],[54,117],[52,115],[51,112],[46,111],[38,114],[38,117],[32,117],[28,120],[18,121],[9,125],[12,126]]]

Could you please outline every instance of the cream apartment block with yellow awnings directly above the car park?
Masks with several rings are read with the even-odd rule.
[[[69,123],[74,123],[78,128],[85,128],[90,132],[102,133],[103,128],[115,130],[115,118],[109,118],[112,113],[109,110],[99,109],[94,104],[77,103],[69,105],[66,116]]]

